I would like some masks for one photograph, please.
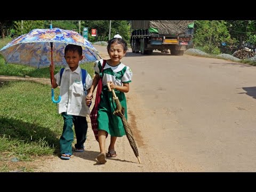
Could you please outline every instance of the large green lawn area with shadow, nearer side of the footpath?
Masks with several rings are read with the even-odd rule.
[[[57,154],[63,122],[51,101],[50,85],[5,82],[0,87],[0,105],[2,159],[31,161],[35,156]],[[6,165],[1,169],[10,171]]]

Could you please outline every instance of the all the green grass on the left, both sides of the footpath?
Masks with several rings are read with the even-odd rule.
[[[0,41],[0,49],[7,43]],[[88,62],[80,66],[93,77],[93,65],[94,62]],[[60,68],[56,66],[54,74]],[[2,55],[0,75],[50,78],[49,67],[36,69],[5,64]],[[54,93],[59,95],[59,89]],[[0,105],[0,172],[33,172],[35,160],[58,155],[63,118],[51,100],[51,85],[2,82]]]

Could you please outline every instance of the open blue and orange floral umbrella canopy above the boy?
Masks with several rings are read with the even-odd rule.
[[[52,61],[50,42],[53,43]],[[68,44],[82,46],[83,60],[80,63],[98,60],[98,51],[89,41],[73,30],[60,28],[33,29],[5,45],[0,50],[0,54],[3,55],[6,63],[36,68],[49,67],[51,62],[56,66],[66,66],[64,50]]]

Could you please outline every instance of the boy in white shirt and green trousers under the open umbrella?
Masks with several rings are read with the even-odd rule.
[[[90,115],[89,105],[91,100],[86,100],[84,86],[82,83],[82,71],[78,63],[83,59],[82,47],[68,44],[65,47],[65,59],[68,67],[54,75],[53,88],[60,86],[61,100],[58,103],[59,114],[64,120],[63,131],[60,137],[60,154],[62,159],[70,159],[72,155],[72,142],[74,140],[73,124],[75,127],[76,140],[75,151],[84,151],[84,142],[87,133],[86,115]],[[50,66],[50,71],[54,70]],[[86,73],[85,90],[87,92],[92,86],[92,78]]]

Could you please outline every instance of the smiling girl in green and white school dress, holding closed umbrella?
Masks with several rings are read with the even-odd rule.
[[[122,38],[110,39],[110,41],[108,42],[107,51],[110,59],[106,61],[106,65],[103,68],[102,72],[102,92],[100,96],[101,100],[98,107],[97,118],[98,138],[100,146],[100,154],[97,156],[97,160],[99,163],[102,164],[107,162],[105,153],[106,135],[111,135],[107,157],[116,157],[116,139],[117,137],[122,137],[123,135],[125,135],[124,126],[121,118],[113,114],[116,105],[115,101],[112,99],[113,95],[111,91],[108,91],[107,83],[109,82],[111,89],[115,90],[115,93],[121,105],[125,108],[124,115],[127,119],[126,98],[124,93],[129,92],[129,83],[132,80],[131,69],[121,63],[121,59],[124,57],[127,51],[127,43]],[[102,63],[102,59],[95,62],[95,77],[93,79],[90,92],[87,94],[87,100],[92,99],[93,91],[98,85]]]

